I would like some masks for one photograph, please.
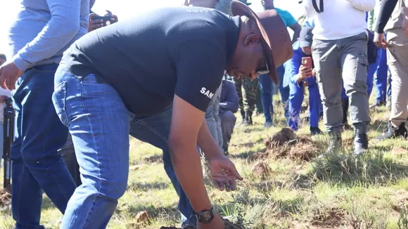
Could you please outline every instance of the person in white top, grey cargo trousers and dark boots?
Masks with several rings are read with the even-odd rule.
[[[312,55],[329,132],[328,152],[341,146],[343,111],[341,90],[350,98],[350,118],[355,129],[355,155],[368,149],[369,117],[366,74],[368,70],[366,11],[376,0],[305,0],[302,10],[314,18]]]

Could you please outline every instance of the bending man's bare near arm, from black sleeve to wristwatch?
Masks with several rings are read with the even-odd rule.
[[[197,152],[198,131],[203,122],[203,111],[193,107],[179,96],[174,96],[169,136],[170,156],[181,187],[196,212],[212,207],[205,191],[200,157]],[[206,150],[206,152],[210,151]]]

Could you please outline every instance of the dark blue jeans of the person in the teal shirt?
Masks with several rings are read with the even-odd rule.
[[[279,75],[279,93],[281,93],[281,101],[283,109],[285,110],[285,117],[289,117],[289,87],[283,87],[283,76],[285,75],[285,68],[283,65],[276,68]],[[263,74],[258,77],[261,89],[262,107],[264,108],[265,121],[272,123],[272,114],[274,113],[274,107],[272,105],[272,79],[268,74]]]

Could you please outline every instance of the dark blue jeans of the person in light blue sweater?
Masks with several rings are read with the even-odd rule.
[[[39,225],[42,190],[64,214],[76,188],[57,152],[68,136],[51,101],[57,67],[43,65],[27,70],[12,91],[16,111],[11,148],[15,228],[44,228]]]

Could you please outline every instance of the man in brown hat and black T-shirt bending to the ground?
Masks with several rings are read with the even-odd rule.
[[[70,130],[82,185],[61,228],[106,228],[127,188],[129,121],[171,105],[170,125],[159,119],[155,128],[140,122],[139,129],[167,144],[172,176],[191,203],[197,228],[224,228],[205,190],[196,146],[209,160],[215,188],[236,190],[236,179],[243,178],[212,138],[205,110],[224,70],[249,79],[269,72],[276,81],[275,66],[293,55],[276,11],[255,14],[239,1],[232,1],[231,11],[232,17],[209,8],[159,8],[90,32],[65,51],[53,103]],[[168,136],[160,126],[170,126]]]

